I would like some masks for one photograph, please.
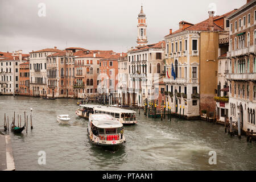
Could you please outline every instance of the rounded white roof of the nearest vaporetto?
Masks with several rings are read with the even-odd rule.
[[[122,127],[123,124],[109,114],[90,114],[89,121],[101,129]]]

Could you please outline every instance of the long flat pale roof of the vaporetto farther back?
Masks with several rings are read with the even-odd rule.
[[[101,105],[93,105],[93,104],[83,104],[80,105],[81,107],[89,107],[93,108],[94,110],[100,110],[100,111],[105,111],[109,113],[130,113],[130,114],[135,114],[136,112],[134,110],[130,109],[121,109],[119,107],[111,107],[111,106],[101,106]]]

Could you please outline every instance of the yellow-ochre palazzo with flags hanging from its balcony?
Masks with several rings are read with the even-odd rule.
[[[170,34],[164,37],[166,103],[174,112],[184,107],[188,118],[199,117],[207,107],[215,110],[218,41],[224,29],[220,27],[222,21],[214,21],[214,11],[208,13],[209,18],[197,24],[179,22],[179,30],[170,29]]]

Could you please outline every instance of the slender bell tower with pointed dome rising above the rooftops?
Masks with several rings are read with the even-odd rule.
[[[147,44],[147,24],[146,24],[146,15],[143,13],[143,7],[141,6],[141,13],[138,15],[138,36],[137,36],[137,46],[146,46]]]

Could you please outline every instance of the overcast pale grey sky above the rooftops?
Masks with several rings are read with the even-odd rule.
[[[39,17],[39,3],[46,16]],[[0,51],[83,47],[126,52],[137,46],[141,4],[147,17],[148,44],[164,39],[185,20],[208,18],[209,4],[217,15],[245,5],[246,0],[0,0]]]

